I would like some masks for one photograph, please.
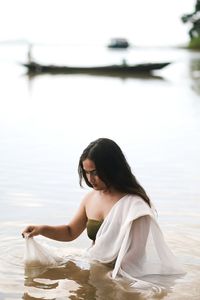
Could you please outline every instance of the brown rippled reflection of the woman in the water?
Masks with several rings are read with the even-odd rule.
[[[65,266],[51,269],[38,269],[39,274],[31,273],[29,270],[25,277],[25,292],[23,299],[132,299],[143,300],[155,297],[162,299],[172,289],[177,276],[154,276],[154,283],[160,284],[162,280],[165,287],[162,289],[138,290],[130,286],[130,280],[118,278],[112,280],[111,268],[98,263],[85,263],[68,261]],[[36,275],[36,276],[33,276]],[[152,280],[151,278],[145,278]]]

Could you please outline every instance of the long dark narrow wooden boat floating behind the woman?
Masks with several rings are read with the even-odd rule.
[[[136,65],[128,65],[125,61],[118,65],[105,65],[94,67],[75,67],[75,66],[58,66],[58,65],[42,65],[35,62],[23,63],[22,65],[28,69],[29,73],[51,73],[51,74],[134,74],[134,73],[150,73],[154,70],[160,70],[168,66],[170,62],[161,63],[144,63]]]

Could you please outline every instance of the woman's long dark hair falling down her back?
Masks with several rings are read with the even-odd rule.
[[[108,138],[99,138],[91,142],[80,156],[78,173],[79,183],[82,186],[84,179],[92,187],[83,169],[83,161],[90,159],[95,164],[99,178],[119,192],[140,196],[149,206],[150,199],[143,187],[138,183],[121,148]]]

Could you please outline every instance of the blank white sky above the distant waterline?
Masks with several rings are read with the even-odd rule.
[[[125,37],[137,46],[187,43],[180,17],[195,0],[0,0],[0,41],[104,44]]]

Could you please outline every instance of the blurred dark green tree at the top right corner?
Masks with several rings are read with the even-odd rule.
[[[190,22],[192,27],[189,30],[190,39],[200,38],[200,0],[196,0],[195,10],[191,14],[185,14],[181,17],[183,23]]]

